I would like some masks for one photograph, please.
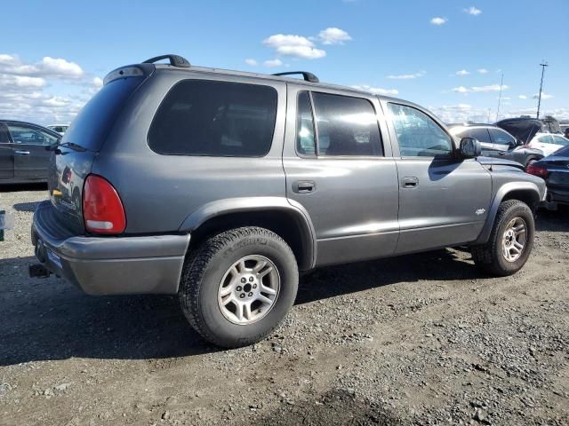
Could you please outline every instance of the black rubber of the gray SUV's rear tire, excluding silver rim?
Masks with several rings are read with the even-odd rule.
[[[264,256],[276,265],[280,289],[271,310],[251,324],[229,321],[220,311],[218,289],[228,269],[244,256]],[[226,348],[259,342],[293,306],[299,272],[293,250],[264,228],[243,227],[212,236],[190,253],[180,280],[180,305],[188,322],[205,340]]]

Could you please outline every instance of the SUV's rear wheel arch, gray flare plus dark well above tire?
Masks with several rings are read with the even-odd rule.
[[[191,250],[214,233],[242,226],[260,226],[278,234],[293,249],[301,271],[316,264],[317,240],[309,213],[300,203],[282,197],[212,201],[189,214],[179,231],[191,234]]]

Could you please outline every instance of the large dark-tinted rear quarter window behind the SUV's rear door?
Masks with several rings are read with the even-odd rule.
[[[276,120],[276,90],[244,83],[185,80],[158,108],[148,132],[157,154],[260,157]]]

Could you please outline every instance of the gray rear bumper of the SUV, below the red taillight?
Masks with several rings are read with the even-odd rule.
[[[90,295],[175,294],[189,234],[136,237],[69,236],[53,224],[52,204],[34,214],[36,257],[52,273]]]

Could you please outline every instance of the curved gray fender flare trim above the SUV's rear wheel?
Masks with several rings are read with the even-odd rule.
[[[317,259],[317,237],[309,212],[299,202],[284,197],[243,197],[211,201],[188,215],[180,225],[179,231],[191,233],[213,217],[248,211],[283,211],[290,214],[301,229],[302,247],[305,258],[302,269],[311,269]]]

